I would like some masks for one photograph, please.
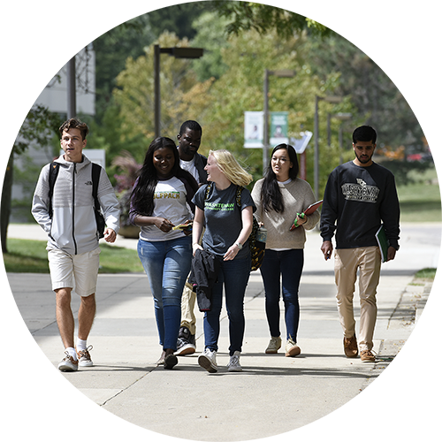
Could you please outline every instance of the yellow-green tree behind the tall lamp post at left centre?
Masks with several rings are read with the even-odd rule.
[[[158,38],[161,47],[188,47],[187,39],[179,40],[175,34],[164,32]],[[154,127],[154,61],[153,45],[136,60],[128,58],[126,69],[119,73],[113,91],[118,105],[123,138],[143,135],[141,151],[155,136]],[[187,59],[164,55],[160,61],[161,80],[161,133],[175,138],[179,122],[201,118],[207,106],[207,92],[212,80],[196,80],[191,62]],[[132,152],[138,159],[138,152]]]

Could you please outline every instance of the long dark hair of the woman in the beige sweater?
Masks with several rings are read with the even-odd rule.
[[[273,156],[273,154],[279,149],[286,149],[288,152],[288,157],[293,164],[293,167],[288,171],[288,175],[289,178],[296,179],[300,171],[300,165],[293,146],[290,144],[278,144],[278,146],[271,151],[271,156]],[[263,186],[261,187],[261,201],[263,202],[263,209],[266,212],[270,212],[271,210],[280,213],[284,212],[284,201],[279,189],[278,179],[271,168],[271,161],[269,162],[269,167],[264,175]]]

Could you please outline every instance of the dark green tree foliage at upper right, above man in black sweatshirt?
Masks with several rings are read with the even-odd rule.
[[[309,63],[314,75],[325,79],[339,72],[334,94],[350,97],[358,118],[376,128],[377,153],[388,154],[400,146],[408,153],[423,150],[422,131],[407,103],[369,57],[333,36],[304,34],[299,43],[298,57]]]

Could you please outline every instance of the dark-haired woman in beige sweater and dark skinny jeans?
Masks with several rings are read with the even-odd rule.
[[[265,312],[271,332],[267,354],[278,353],[281,347],[279,331],[279,299],[285,306],[286,356],[301,354],[297,345],[300,318],[298,290],[304,265],[305,230],[319,221],[316,210],[309,217],[300,216],[315,195],[307,181],[297,178],[299,164],[296,152],[289,144],[278,144],[271,153],[270,166],[263,179],[255,183],[252,197],[256,205],[255,217],[267,229],[266,250],[260,268],[265,290]],[[296,228],[290,231],[293,221]]]

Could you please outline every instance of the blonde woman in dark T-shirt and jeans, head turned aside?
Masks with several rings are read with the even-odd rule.
[[[229,371],[242,371],[240,352],[244,338],[244,294],[250,275],[248,235],[252,232],[255,203],[247,186],[252,176],[227,150],[211,150],[204,168],[209,184],[200,187],[195,204],[193,249],[209,251],[220,261],[217,282],[212,287],[211,309],[204,314],[205,349],[198,363],[210,373],[217,372],[219,316],[223,304],[229,316]],[[240,198],[237,198],[239,196]],[[239,202],[240,199],[240,202]],[[198,244],[206,226],[202,246]]]

